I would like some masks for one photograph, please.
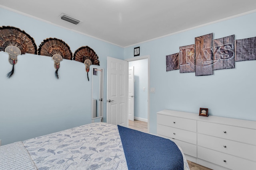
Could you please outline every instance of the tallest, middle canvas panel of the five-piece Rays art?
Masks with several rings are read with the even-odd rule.
[[[196,76],[213,74],[213,33],[195,38]]]

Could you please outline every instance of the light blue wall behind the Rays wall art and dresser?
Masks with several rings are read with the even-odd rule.
[[[156,112],[163,109],[199,113],[205,107],[210,115],[256,121],[256,61],[236,62],[236,68],[216,70],[211,76],[166,72],[166,55],[194,44],[195,37],[208,33],[214,33],[214,39],[233,34],[235,39],[255,37],[255,20],[256,13],[247,14],[124,49],[124,59],[133,58],[138,46],[140,56],[150,55],[149,88],[155,87],[150,93],[150,133],[156,134]]]

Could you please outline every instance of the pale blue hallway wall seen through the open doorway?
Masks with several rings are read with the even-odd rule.
[[[148,119],[148,59],[130,61],[134,66],[134,117]],[[143,91],[145,88],[145,91]]]

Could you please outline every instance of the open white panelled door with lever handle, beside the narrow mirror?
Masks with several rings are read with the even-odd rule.
[[[128,127],[127,61],[107,57],[107,123]]]

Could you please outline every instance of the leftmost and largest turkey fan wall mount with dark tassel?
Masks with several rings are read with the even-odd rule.
[[[37,54],[37,47],[34,39],[24,30],[2,26],[0,27],[0,51],[9,54],[12,70],[7,74],[7,77],[10,78],[14,74],[14,65],[18,61],[17,56],[25,53]]]

